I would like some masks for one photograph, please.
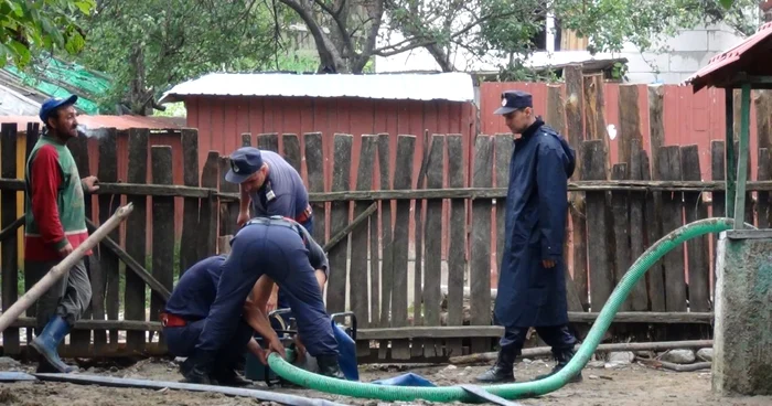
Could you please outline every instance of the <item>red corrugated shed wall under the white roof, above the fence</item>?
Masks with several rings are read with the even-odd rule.
[[[475,108],[472,104],[443,100],[375,100],[357,98],[310,97],[191,97],[186,100],[187,126],[199,129],[199,161],[203,168],[210,150],[228,154],[242,146],[242,133],[322,132],[326,188],[332,183],[334,133],[354,137],[352,168],[358,165],[362,135],[387,132],[390,140],[390,165],[396,161],[397,135],[416,136],[414,182],[423,151],[423,131],[460,133],[469,157],[469,140],[474,132]],[[281,138],[279,138],[281,150]],[[304,150],[300,137],[301,151]],[[255,145],[253,138],[253,145]],[[307,179],[303,163],[302,177]],[[356,171],[352,171],[352,185]],[[375,183],[377,184],[377,182]]]

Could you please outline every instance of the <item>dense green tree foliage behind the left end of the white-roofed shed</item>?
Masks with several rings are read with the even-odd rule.
[[[78,62],[111,76],[111,90],[99,99],[104,107],[149,114],[180,82],[270,68],[276,22],[285,20],[255,0],[105,0],[82,21],[88,42]]]

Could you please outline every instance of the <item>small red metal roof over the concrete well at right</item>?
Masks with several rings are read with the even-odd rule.
[[[723,53],[710,58],[708,64],[697,71],[686,79],[686,83],[694,85],[694,92],[698,92],[705,86],[716,86],[721,79],[730,75],[749,70],[755,74],[771,75],[772,67],[769,63],[753,63],[758,56],[770,58],[770,45],[772,45],[772,22],[768,22],[753,35],[747,38],[741,43]]]

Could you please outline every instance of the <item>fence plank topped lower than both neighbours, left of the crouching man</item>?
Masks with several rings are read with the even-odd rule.
[[[153,146],[150,149],[152,182],[172,184],[172,148]],[[170,291],[174,287],[174,197],[152,197],[152,275]],[[159,320],[163,301],[150,298],[150,320]],[[159,343],[163,338],[159,336]]]

